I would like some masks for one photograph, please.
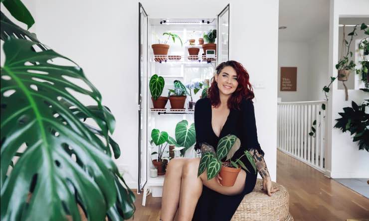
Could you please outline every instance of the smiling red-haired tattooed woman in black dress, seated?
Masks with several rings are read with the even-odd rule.
[[[236,61],[219,64],[208,96],[195,105],[195,149],[216,151],[221,137],[236,135],[241,145],[231,160],[236,161],[248,150],[263,178],[263,189],[271,196],[278,188],[272,187],[264,152],[257,140],[253,98],[246,69]],[[249,171],[254,171],[246,157],[240,160]],[[231,187],[220,184],[219,174],[207,180],[206,169],[197,176],[199,162],[200,158],[174,158],[168,163],[161,220],[173,221],[179,207],[179,221],[229,221],[243,197],[255,187],[257,174],[243,168]]]

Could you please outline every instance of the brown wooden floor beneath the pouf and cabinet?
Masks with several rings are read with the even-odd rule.
[[[295,221],[369,219],[368,198],[279,150],[277,183],[285,186],[290,194],[290,213]],[[134,221],[159,221],[162,198],[150,195],[143,207],[142,194],[136,197]]]

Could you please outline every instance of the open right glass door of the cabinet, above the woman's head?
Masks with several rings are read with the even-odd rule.
[[[229,60],[229,4],[218,14],[218,64]]]

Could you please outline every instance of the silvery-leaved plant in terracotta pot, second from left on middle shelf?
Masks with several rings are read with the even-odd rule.
[[[169,101],[171,103],[171,109],[184,109],[184,102],[186,101],[186,95],[188,94],[186,88],[181,81],[174,81],[174,89],[169,90]]]

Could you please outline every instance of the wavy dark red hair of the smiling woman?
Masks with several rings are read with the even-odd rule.
[[[249,81],[250,76],[247,73],[246,69],[242,66],[242,64],[237,61],[226,61],[220,63],[218,67],[216,67],[216,74],[219,75],[221,70],[227,66],[232,67],[236,71],[238,82],[236,90],[228,99],[227,106],[229,109],[232,108],[239,110],[242,98],[245,98],[246,100],[252,100],[255,97]],[[211,86],[208,89],[207,94],[210,99],[211,105],[214,107],[219,107],[219,89],[214,78],[212,78]]]

